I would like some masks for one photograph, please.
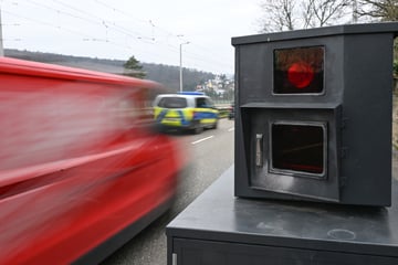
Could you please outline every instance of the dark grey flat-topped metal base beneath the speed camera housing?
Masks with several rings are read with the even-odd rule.
[[[233,195],[233,167],[167,229],[168,265],[398,264],[398,183],[392,206]]]

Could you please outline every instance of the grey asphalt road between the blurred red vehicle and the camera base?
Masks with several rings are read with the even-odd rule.
[[[217,129],[200,135],[172,134],[184,142],[188,167],[180,176],[174,206],[103,265],[166,264],[166,225],[233,163],[233,120],[221,119]]]

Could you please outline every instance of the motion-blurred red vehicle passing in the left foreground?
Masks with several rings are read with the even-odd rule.
[[[170,206],[157,83],[2,57],[0,84],[0,264],[96,263]]]

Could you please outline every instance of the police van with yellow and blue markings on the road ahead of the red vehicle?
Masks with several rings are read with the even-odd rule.
[[[158,95],[154,102],[155,120],[159,129],[186,129],[200,134],[216,129],[219,112],[202,93],[184,92]]]

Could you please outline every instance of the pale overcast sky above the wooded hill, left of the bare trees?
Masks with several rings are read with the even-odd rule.
[[[3,46],[233,74],[231,38],[256,34],[261,0],[0,0]]]

